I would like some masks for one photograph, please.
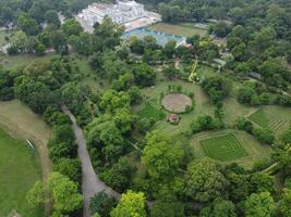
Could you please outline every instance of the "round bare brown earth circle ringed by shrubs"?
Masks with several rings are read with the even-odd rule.
[[[192,99],[183,93],[169,93],[161,99],[165,110],[173,113],[184,113],[187,106],[192,106]]]

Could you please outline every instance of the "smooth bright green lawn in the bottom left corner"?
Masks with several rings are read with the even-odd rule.
[[[12,210],[23,217],[43,217],[44,212],[26,202],[26,192],[41,179],[38,156],[26,142],[11,138],[0,129],[0,216]]]

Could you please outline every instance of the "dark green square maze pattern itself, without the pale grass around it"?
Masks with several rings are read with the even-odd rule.
[[[206,156],[221,162],[247,156],[246,151],[233,133],[202,140],[201,145]]]

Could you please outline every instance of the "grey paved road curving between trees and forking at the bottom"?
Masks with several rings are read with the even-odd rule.
[[[71,118],[73,125],[73,130],[76,138],[77,143],[77,153],[80,161],[82,163],[82,192],[84,196],[84,217],[89,217],[89,199],[94,196],[96,193],[105,191],[108,195],[113,196],[119,200],[121,195],[113,191],[110,187],[107,187],[98,176],[96,175],[92,162],[89,158],[89,154],[87,151],[86,140],[83,135],[81,127],[76,124],[76,119],[74,115],[70,112],[66,106],[62,106],[62,111]]]

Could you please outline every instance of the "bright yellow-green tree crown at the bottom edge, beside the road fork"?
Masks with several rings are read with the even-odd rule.
[[[110,213],[110,217],[145,217],[144,193],[128,191],[122,194],[118,206]]]

